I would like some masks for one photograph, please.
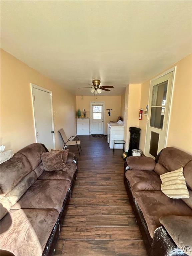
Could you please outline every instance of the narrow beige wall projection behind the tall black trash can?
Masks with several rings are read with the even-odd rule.
[[[124,140],[126,151],[129,148],[129,127],[139,126],[139,108],[141,100],[141,84],[129,84],[126,86],[125,93],[125,125]]]

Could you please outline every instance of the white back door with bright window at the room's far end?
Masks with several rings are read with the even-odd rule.
[[[104,103],[91,103],[91,134],[104,133]]]

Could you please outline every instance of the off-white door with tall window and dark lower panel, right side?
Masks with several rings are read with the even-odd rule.
[[[151,81],[145,155],[156,157],[165,147],[173,72]]]

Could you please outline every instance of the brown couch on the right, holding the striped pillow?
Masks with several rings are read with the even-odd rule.
[[[183,167],[190,198],[172,199],[161,191],[159,175],[180,167]],[[162,226],[160,218],[181,216],[185,219],[192,216],[192,156],[167,147],[155,160],[150,157],[128,157],[124,164],[124,183],[148,254],[186,255],[184,252],[173,254],[172,246],[177,245]]]

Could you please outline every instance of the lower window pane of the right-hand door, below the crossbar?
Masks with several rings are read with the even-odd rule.
[[[165,107],[153,107],[151,108],[150,126],[159,129],[163,128]]]

